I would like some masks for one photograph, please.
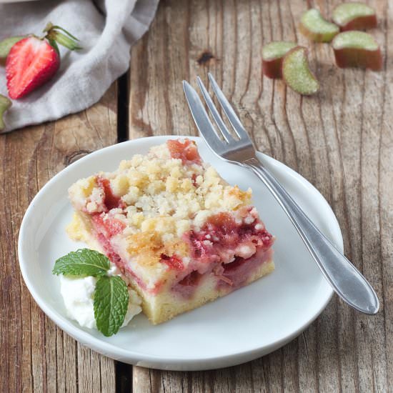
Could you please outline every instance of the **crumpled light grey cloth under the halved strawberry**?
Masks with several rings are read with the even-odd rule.
[[[4,114],[6,129],[59,119],[88,108],[129,68],[130,47],[149,28],[159,0],[31,1],[1,4],[0,40],[42,35],[47,22],[80,40],[80,51],[59,46],[61,66],[53,79],[14,100]],[[7,96],[5,67],[0,65],[0,93]]]

